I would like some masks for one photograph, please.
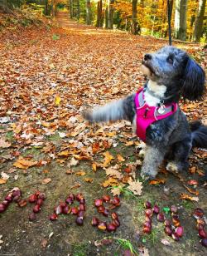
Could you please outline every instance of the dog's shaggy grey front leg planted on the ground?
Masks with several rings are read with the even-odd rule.
[[[147,145],[144,162],[142,165],[141,176],[143,179],[154,179],[159,165],[164,159],[166,150],[156,146]]]

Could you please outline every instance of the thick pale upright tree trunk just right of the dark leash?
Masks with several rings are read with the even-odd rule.
[[[175,38],[186,40],[186,11],[188,0],[176,0]]]

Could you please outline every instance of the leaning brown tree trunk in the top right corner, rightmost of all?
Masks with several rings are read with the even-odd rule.
[[[200,37],[202,36],[203,32],[203,22],[205,16],[205,3],[206,0],[199,1],[199,9],[195,18],[195,27],[193,33],[193,41],[200,42]]]

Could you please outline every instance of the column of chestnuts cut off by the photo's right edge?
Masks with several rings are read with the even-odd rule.
[[[199,236],[200,236],[200,244],[202,244],[203,246],[207,247],[207,233],[205,231],[205,219],[204,219],[204,211],[200,208],[196,208],[194,211],[194,218],[196,219],[197,222],[197,229],[199,232]]]

